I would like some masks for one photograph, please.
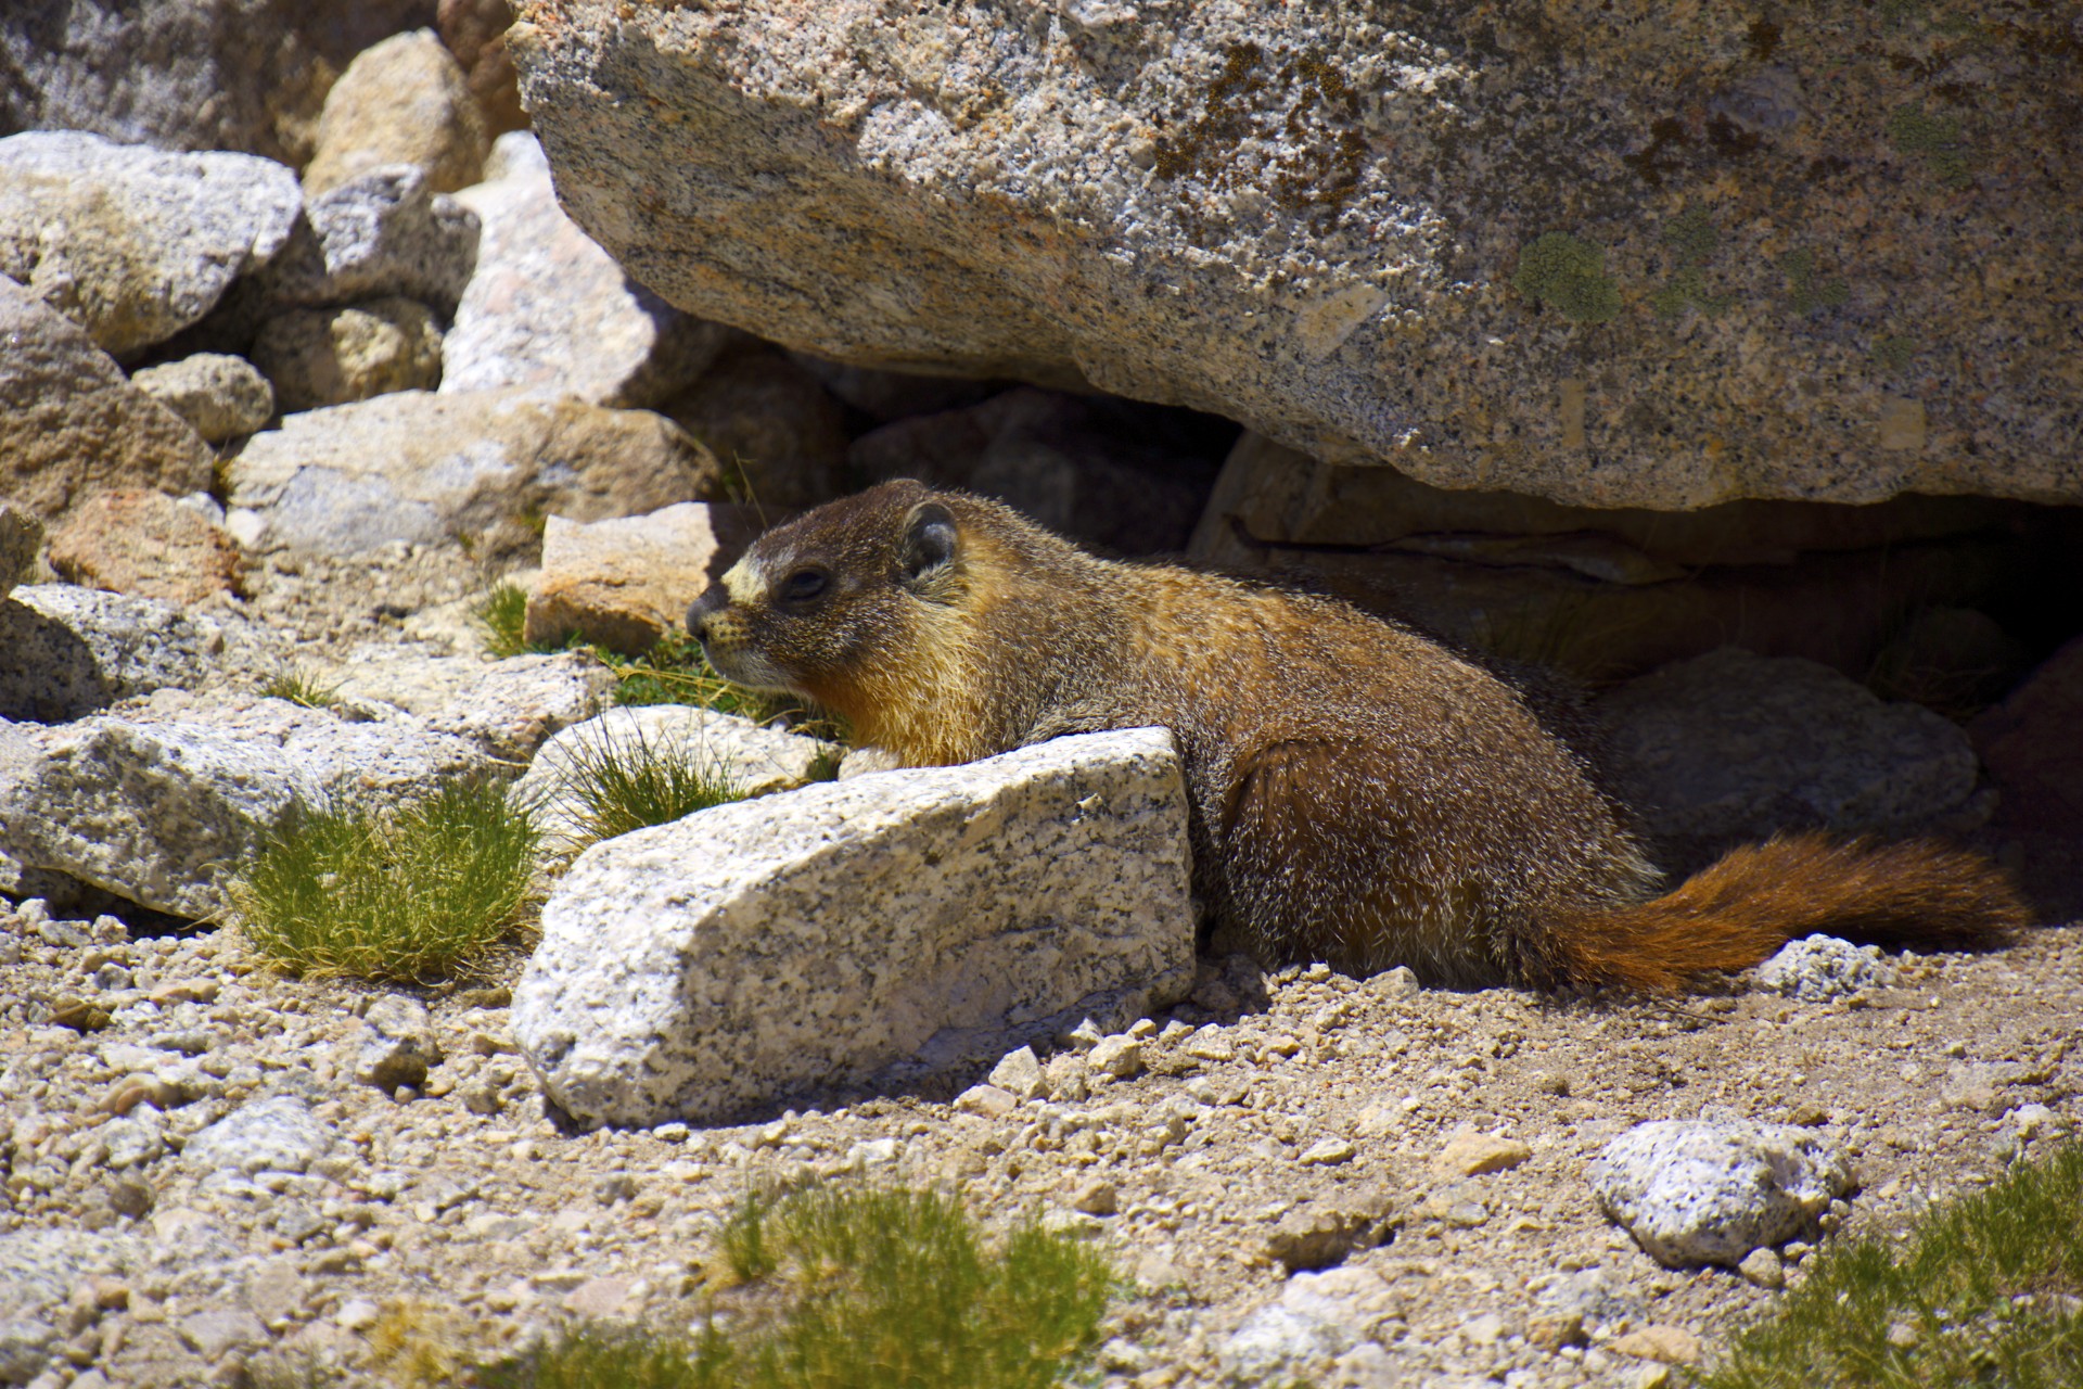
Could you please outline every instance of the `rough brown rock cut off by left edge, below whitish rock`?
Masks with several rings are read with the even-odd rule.
[[[40,521],[102,487],[187,494],[215,454],[67,317],[0,275],[0,496]]]

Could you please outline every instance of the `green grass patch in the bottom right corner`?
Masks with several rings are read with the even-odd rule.
[[[2073,1389],[2083,1383],[2083,1141],[1927,1216],[1829,1249],[1702,1389]]]

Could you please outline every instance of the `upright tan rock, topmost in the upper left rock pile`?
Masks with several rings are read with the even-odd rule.
[[[485,117],[431,29],[394,33],[354,56],[325,96],[304,187],[325,194],[385,165],[412,165],[437,194],[479,179]]]

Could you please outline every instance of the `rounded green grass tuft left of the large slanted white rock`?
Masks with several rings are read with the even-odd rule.
[[[527,895],[535,825],[492,783],[396,810],[310,810],[231,881],[246,941],[294,975],[427,981],[471,964]]]

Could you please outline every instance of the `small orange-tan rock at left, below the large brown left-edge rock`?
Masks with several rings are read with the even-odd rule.
[[[50,566],[67,583],[185,608],[237,594],[244,562],[202,508],[127,489],[96,491],[75,506],[50,533]]]

